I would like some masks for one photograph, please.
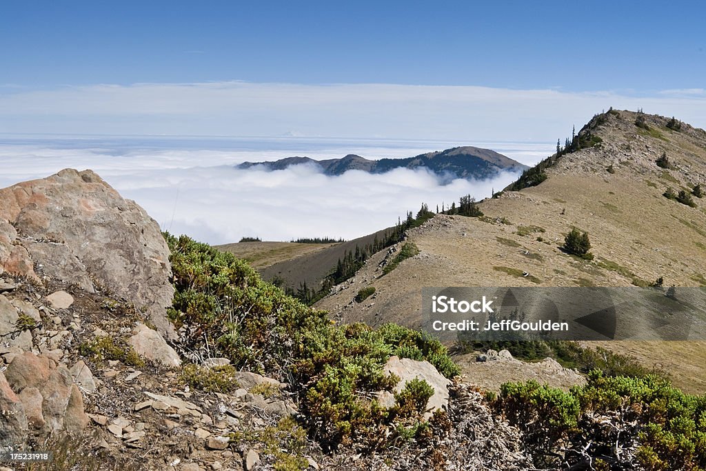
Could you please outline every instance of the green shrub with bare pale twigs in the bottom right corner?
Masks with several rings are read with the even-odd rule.
[[[536,381],[508,383],[501,386],[495,405],[524,432],[525,446],[539,451],[535,465],[554,467],[560,462],[553,457],[563,456],[566,467],[588,456],[619,469],[706,466],[706,396],[684,394],[660,376],[628,378],[592,371],[586,386],[568,393]],[[616,427],[606,427],[606,419]],[[629,448],[633,443],[638,463],[621,462],[618,445]]]

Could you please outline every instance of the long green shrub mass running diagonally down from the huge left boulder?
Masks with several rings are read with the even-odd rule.
[[[420,331],[385,325],[336,326],[263,282],[232,254],[164,234],[172,252],[174,303],[169,316],[186,329],[192,350],[208,344],[236,369],[258,371],[292,384],[301,425],[325,450],[352,441],[379,443],[395,416],[369,400],[397,381],[383,371],[389,357],[427,360],[446,376],[458,368],[441,342]]]

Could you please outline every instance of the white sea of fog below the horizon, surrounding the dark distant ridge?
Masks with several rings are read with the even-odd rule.
[[[517,174],[449,182],[426,169],[374,175],[349,171],[329,177],[307,165],[274,172],[234,167],[295,155],[412,157],[458,145],[490,148],[526,165],[554,149],[552,143],[299,137],[0,136],[0,188],[64,168],[93,169],[143,206],[162,229],[201,242],[224,244],[246,236],[353,239],[394,225],[407,210],[416,213],[421,203],[434,210],[465,194],[485,198]]]

